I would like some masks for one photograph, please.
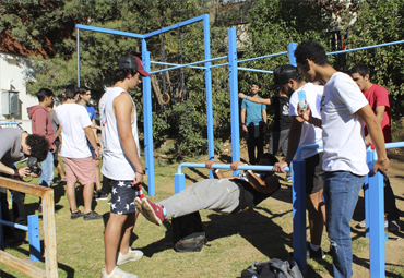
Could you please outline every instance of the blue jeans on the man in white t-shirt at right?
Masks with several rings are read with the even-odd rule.
[[[326,230],[331,242],[334,277],[352,277],[350,220],[366,176],[325,172]]]

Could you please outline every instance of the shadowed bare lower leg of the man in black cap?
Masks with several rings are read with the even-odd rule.
[[[310,195],[306,195],[306,206],[309,213],[310,240],[313,245],[321,245],[321,237],[324,229],[322,206],[322,190]]]

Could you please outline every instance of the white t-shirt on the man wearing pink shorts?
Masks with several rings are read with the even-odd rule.
[[[91,126],[87,110],[76,104],[64,104],[56,109],[60,126],[62,128],[61,157],[85,158],[92,154],[87,146],[84,128]]]

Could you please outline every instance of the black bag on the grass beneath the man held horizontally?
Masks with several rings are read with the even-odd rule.
[[[199,252],[207,242],[199,211],[171,218],[173,243],[177,252]]]

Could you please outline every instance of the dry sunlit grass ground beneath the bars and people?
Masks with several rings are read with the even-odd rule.
[[[202,162],[206,157],[187,161]],[[157,202],[174,194],[174,173],[178,164],[155,162],[156,196],[150,197]],[[187,185],[209,178],[206,169],[188,169],[183,172]],[[226,176],[230,171],[224,171]],[[56,176],[57,177],[57,176]],[[57,180],[57,178],[56,178]],[[38,183],[37,179],[32,181]],[[147,180],[145,181],[147,184]],[[82,218],[70,220],[69,203],[66,186],[54,186],[56,197],[56,233],[59,277],[100,277],[104,267],[104,228],[109,216],[107,201],[93,202],[94,209],[104,215],[103,220],[84,221]],[[144,195],[146,197],[147,186]],[[76,188],[76,198],[83,210],[81,186]],[[10,198],[9,198],[10,200]],[[239,215],[221,215],[211,210],[202,210],[201,217],[209,240],[201,252],[176,253],[173,250],[170,219],[157,227],[140,216],[132,234],[132,249],[140,249],[144,257],[128,263],[121,268],[139,275],[139,277],[240,277],[242,269],[253,262],[270,258],[286,259],[293,251],[292,225],[292,190],[284,183],[273,197],[264,201],[256,210]],[[26,211],[37,214],[38,198],[26,196]],[[41,215],[39,216],[41,240],[44,237]],[[364,237],[354,238],[354,277],[369,277],[369,241]],[[323,249],[329,251],[326,233],[323,234]],[[8,249],[8,253],[25,259],[28,258],[28,244]],[[332,277],[332,259],[330,255],[321,262],[309,259],[308,277]],[[388,266],[387,277],[404,277],[404,264]],[[45,269],[45,263],[34,263]],[[389,268],[390,267],[390,268]],[[0,277],[24,277],[17,270],[0,264]]]

